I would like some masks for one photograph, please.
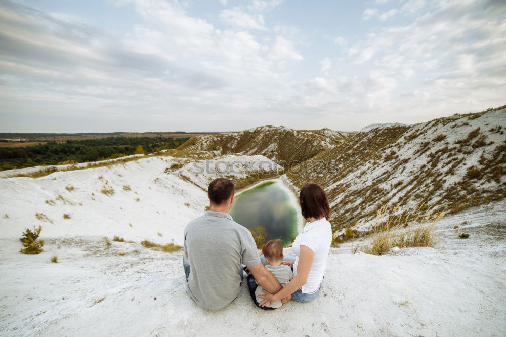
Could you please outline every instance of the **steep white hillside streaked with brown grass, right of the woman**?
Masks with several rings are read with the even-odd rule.
[[[288,173],[298,187],[324,186],[335,229],[371,220],[384,204],[457,213],[506,196],[504,107],[363,130]]]

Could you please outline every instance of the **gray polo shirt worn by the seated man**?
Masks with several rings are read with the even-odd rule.
[[[240,265],[260,263],[251,233],[227,213],[208,210],[185,227],[190,275],[188,294],[200,307],[221,309],[238,296]]]

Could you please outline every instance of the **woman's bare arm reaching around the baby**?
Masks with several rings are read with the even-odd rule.
[[[302,287],[308,281],[309,271],[313,265],[314,251],[305,245],[301,245],[301,251],[299,253],[299,264],[297,265],[297,276],[294,277],[286,286],[275,294],[266,293],[265,295],[259,295],[259,298],[264,299],[259,303],[260,306],[264,307],[269,302],[276,302],[284,299],[288,295],[296,292],[297,289]],[[263,291],[263,290],[262,290]]]

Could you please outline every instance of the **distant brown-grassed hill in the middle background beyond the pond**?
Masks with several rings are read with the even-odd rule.
[[[195,151],[209,151],[216,155],[260,154],[276,162],[302,162],[341,144],[351,135],[330,129],[293,130],[268,125],[239,132],[192,137],[178,150],[182,156]]]

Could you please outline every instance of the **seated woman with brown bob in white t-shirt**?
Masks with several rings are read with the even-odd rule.
[[[296,258],[291,261],[293,258],[287,257],[283,262],[293,268],[293,279],[275,294],[262,290],[265,295],[259,296],[263,299],[259,303],[261,307],[269,307],[271,302],[284,299],[290,294],[293,301],[310,302],[320,292],[332,242],[332,228],[328,222],[330,206],[325,191],[315,183],[304,185],[299,203],[302,216],[308,223],[293,241],[292,249]]]

